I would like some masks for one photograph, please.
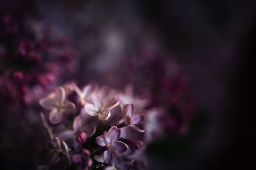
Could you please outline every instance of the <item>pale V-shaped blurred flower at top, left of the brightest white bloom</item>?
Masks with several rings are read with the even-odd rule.
[[[76,86],[76,84],[73,84],[73,87],[74,87],[74,91],[79,96],[82,106],[88,103],[88,100],[90,100],[90,95],[95,91],[97,91],[96,84],[88,84],[83,88],[83,90],[81,90],[78,86]]]

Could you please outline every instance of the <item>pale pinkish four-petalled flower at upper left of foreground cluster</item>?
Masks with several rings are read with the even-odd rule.
[[[61,86],[54,94],[40,99],[39,103],[43,108],[51,110],[49,121],[52,124],[58,124],[63,119],[63,113],[71,113],[75,108],[72,102],[65,100],[65,90]]]

